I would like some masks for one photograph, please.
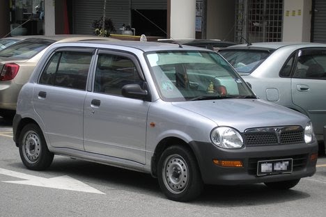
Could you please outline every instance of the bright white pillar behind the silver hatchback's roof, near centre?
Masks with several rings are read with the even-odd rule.
[[[168,0],[168,37],[196,37],[196,0]]]

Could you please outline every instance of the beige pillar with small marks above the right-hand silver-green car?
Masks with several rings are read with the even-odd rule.
[[[312,0],[284,1],[284,42],[311,41],[311,6]]]

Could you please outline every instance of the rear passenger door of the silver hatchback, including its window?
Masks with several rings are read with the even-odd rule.
[[[34,108],[53,147],[84,150],[86,81],[93,49],[59,49],[34,89]]]

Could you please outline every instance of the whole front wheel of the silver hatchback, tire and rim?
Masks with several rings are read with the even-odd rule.
[[[164,150],[157,169],[160,188],[170,200],[194,200],[203,191],[203,180],[197,161],[186,147],[173,145]]]

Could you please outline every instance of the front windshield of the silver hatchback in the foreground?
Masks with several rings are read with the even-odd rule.
[[[255,97],[240,76],[215,52],[161,51],[146,57],[165,101]]]

